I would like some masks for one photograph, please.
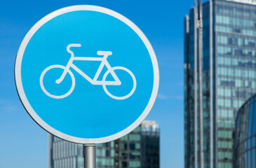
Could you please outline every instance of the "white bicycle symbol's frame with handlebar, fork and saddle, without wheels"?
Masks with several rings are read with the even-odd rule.
[[[109,51],[97,51],[97,55],[103,55],[103,57],[74,57],[74,52],[72,52],[69,48],[71,47],[81,47],[80,44],[70,44],[67,46],[67,52],[71,54],[71,57],[69,59],[69,62],[67,63],[67,66],[65,70],[62,73],[62,76],[58,80],[56,80],[56,83],[61,83],[62,80],[65,78],[67,71],[70,67],[72,67],[75,71],[77,71],[83,78],[86,78],[91,84],[93,85],[121,85],[121,81],[116,76],[116,73],[112,70],[112,66],[110,66],[109,62],[107,62],[107,57],[109,55],[112,55],[112,52]],[[73,61],[100,61],[100,66],[97,69],[97,72],[94,76],[94,78],[90,78],[86,73],[83,73],[81,69],[79,69],[77,66],[73,64]],[[106,66],[109,73],[112,74],[114,81],[103,81],[103,80],[97,80],[99,78],[100,73],[102,72],[103,67]]]

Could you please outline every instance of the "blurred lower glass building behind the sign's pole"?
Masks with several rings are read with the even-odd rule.
[[[97,168],[159,168],[159,125],[144,121],[130,134],[96,146]],[[83,168],[83,145],[49,136],[49,168]]]

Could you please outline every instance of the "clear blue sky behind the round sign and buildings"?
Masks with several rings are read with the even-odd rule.
[[[90,4],[115,10],[140,27],[159,61],[159,96],[147,120],[161,127],[161,167],[184,167],[183,20],[193,6],[184,1],[1,1],[1,167],[48,167],[48,133],[29,117],[14,83],[15,55],[27,31],[43,16],[66,6]]]

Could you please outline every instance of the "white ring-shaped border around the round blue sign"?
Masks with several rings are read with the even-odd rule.
[[[151,97],[149,99],[149,103],[147,104],[146,108],[144,109],[143,113],[140,115],[135,122],[127,127],[126,129],[122,130],[121,132],[118,132],[116,134],[110,135],[108,137],[102,137],[97,139],[84,139],[84,138],[78,138],[73,137],[67,134],[64,134],[62,132],[59,132],[58,130],[55,130],[53,127],[50,127],[47,123],[45,123],[34,111],[32,106],[29,104],[26,94],[23,90],[22,86],[22,78],[21,78],[21,66],[22,66],[22,57],[25,52],[25,48],[27,47],[27,43],[29,43],[30,38],[34,35],[34,33],[43,26],[46,22],[49,20],[57,17],[58,15],[62,15],[64,13],[69,13],[77,10],[90,10],[90,11],[96,11],[100,13],[105,13],[107,15],[111,15],[114,18],[117,18],[118,20],[121,20],[126,25],[128,25],[135,33],[140,36],[142,39],[144,45],[146,45],[147,50],[149,52],[149,55],[151,57],[151,62],[153,64],[153,70],[154,70],[154,85],[153,90],[151,93]],[[29,30],[25,38],[23,39],[20,48],[18,50],[18,55],[15,60],[15,85],[20,97],[20,101],[22,102],[23,106],[25,107],[27,113],[29,113],[29,116],[32,117],[32,119],[40,125],[40,127],[43,128],[43,130],[46,130],[50,134],[55,135],[56,137],[59,137],[60,139],[65,139],[66,141],[71,141],[78,144],[101,144],[109,141],[113,141],[115,139],[119,139],[123,137],[124,135],[132,132],[137,126],[142,123],[142,121],[147,117],[149,112],[151,111],[154,102],[156,101],[157,92],[159,90],[159,64],[156,59],[156,54],[154,52],[154,49],[151,46],[151,43],[149,43],[149,40],[147,37],[143,34],[143,32],[128,18],[124,17],[123,15],[116,13],[114,10],[110,10],[107,8],[103,8],[100,6],[89,6],[89,5],[79,5],[79,6],[68,6],[65,8],[60,8],[59,10],[55,10],[53,13],[50,13],[46,15],[44,18],[39,20],[39,22],[36,22],[36,24]]]

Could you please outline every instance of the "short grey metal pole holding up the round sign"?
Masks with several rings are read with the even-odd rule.
[[[84,168],[96,168],[96,145],[83,144]]]

